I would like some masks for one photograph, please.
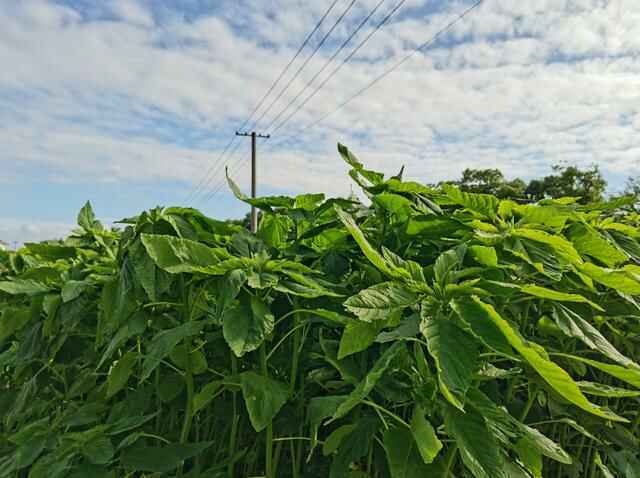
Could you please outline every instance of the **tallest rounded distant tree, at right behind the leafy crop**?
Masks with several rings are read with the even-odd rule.
[[[529,183],[525,190],[527,197],[540,200],[573,196],[580,197],[581,203],[602,200],[607,182],[597,166],[581,170],[576,166],[554,165],[552,170],[554,174]]]

